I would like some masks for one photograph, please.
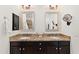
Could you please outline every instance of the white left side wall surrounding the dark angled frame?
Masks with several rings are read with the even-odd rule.
[[[9,35],[14,35],[18,31],[12,31],[12,13],[19,15],[17,6],[0,5],[0,53],[9,53]],[[6,17],[6,19],[4,19]],[[6,24],[5,24],[6,21]]]

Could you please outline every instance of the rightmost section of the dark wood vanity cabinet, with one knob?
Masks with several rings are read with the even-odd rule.
[[[59,53],[60,54],[70,54],[70,41],[60,41],[59,42]]]

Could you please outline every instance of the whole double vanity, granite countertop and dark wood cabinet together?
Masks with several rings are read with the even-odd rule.
[[[70,54],[70,36],[18,34],[10,37],[10,54]]]

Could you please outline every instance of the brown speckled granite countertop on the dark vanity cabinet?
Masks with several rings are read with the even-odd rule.
[[[64,34],[17,34],[10,41],[70,41],[71,37]]]

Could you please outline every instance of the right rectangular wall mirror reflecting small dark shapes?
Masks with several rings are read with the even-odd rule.
[[[57,12],[46,12],[46,31],[58,31],[58,13]]]

